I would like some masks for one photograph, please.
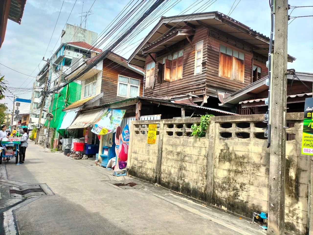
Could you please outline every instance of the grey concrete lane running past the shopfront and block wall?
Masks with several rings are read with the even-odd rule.
[[[222,226],[223,221],[215,223],[193,213],[194,209],[173,204],[177,196],[163,200],[168,190],[140,181],[145,186],[141,190],[120,189],[107,181],[129,177],[111,176],[111,171],[95,166],[92,160],[47,153],[33,143],[27,148],[24,165],[11,161],[0,165],[4,166],[8,180],[46,183],[55,194],[28,199],[25,204],[31,202],[14,211],[20,235],[243,234]]]

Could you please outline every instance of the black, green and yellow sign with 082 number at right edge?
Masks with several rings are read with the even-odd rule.
[[[313,98],[306,98],[304,105],[301,154],[313,155]]]

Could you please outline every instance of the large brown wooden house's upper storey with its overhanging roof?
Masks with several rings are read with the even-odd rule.
[[[218,96],[267,76],[268,53],[268,37],[209,12],[161,17],[128,61],[145,68],[145,97],[218,107]]]

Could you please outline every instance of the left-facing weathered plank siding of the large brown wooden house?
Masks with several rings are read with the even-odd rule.
[[[208,29],[199,26],[195,29],[195,35],[193,36],[192,43],[195,46],[197,42],[203,40],[203,61],[206,60],[207,54],[207,39],[208,39]],[[183,55],[183,69],[182,69],[182,79],[164,82],[163,84],[157,83],[155,79],[154,87],[145,88],[144,95],[147,97],[172,97],[174,95],[183,93],[193,93],[195,95],[205,94],[205,83],[206,74],[205,68],[202,69],[202,74],[194,75],[194,63],[195,63],[195,48],[192,48],[191,44],[187,39],[174,44],[169,48],[172,52],[184,49]],[[162,63],[165,56],[169,55],[167,51],[161,51],[156,57],[158,63]],[[146,65],[151,63],[153,60],[148,55],[146,57]],[[156,64],[157,66],[157,64]],[[155,67],[155,78],[157,75],[157,67]]]

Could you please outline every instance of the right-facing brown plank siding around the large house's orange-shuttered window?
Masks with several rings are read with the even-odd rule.
[[[218,76],[220,44],[227,46],[233,50],[238,50],[244,53],[244,82],[235,81]],[[207,95],[217,97],[218,92],[233,93],[234,91],[238,91],[248,86],[251,83],[252,57],[253,57],[252,53],[249,53],[246,50],[241,50],[223,41],[208,36],[208,56],[206,63]],[[257,63],[259,65],[260,62],[258,61]],[[261,67],[261,72],[262,70],[264,70],[263,66]]]

